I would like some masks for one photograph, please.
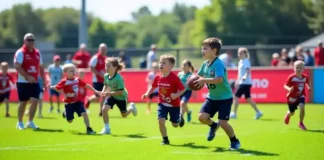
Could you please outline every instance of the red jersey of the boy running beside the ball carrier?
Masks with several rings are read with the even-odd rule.
[[[181,83],[179,77],[175,75],[173,72],[167,77],[161,77],[161,75],[157,75],[154,78],[153,88],[159,88],[159,103],[167,107],[180,107],[180,97],[176,99],[171,99],[171,93],[177,93],[180,90],[184,90],[184,86]]]

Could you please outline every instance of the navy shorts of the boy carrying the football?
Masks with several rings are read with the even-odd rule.
[[[210,118],[213,118],[218,112],[218,119],[229,120],[231,113],[233,98],[224,100],[211,100],[206,98],[203,103],[200,113],[208,113]]]

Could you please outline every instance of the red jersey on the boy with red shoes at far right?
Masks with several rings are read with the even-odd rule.
[[[299,98],[306,96],[306,84],[309,84],[309,80],[305,74],[302,74],[302,78],[298,78],[295,73],[289,75],[285,85],[294,87],[294,89],[287,94],[288,103],[296,103]]]

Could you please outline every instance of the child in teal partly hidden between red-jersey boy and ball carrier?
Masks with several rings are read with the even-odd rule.
[[[191,121],[191,113],[192,111],[188,108],[188,102],[192,95],[192,90],[187,85],[187,79],[192,75],[195,71],[194,67],[192,66],[191,61],[183,60],[182,61],[182,71],[178,73],[178,77],[180,78],[182,84],[186,87],[185,93],[180,96],[180,107],[181,107],[181,115],[187,113],[187,122]],[[194,93],[194,98],[196,97],[196,92]]]

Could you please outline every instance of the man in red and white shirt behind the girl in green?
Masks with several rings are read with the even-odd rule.
[[[106,53],[107,53],[107,45],[105,43],[101,43],[98,48],[98,53],[92,56],[90,60],[90,68],[92,72],[92,82],[93,88],[97,91],[102,91],[104,86],[104,75],[105,71],[105,60],[106,60]],[[89,99],[85,102],[85,107],[89,108],[90,102],[98,101],[100,99],[97,95],[92,95]],[[103,100],[100,101],[99,107],[99,115],[101,116],[101,107],[103,106]]]

